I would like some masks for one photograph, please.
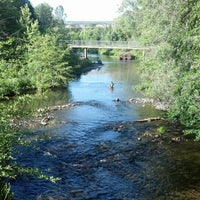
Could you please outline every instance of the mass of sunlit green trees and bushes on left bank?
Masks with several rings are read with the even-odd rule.
[[[41,5],[41,8],[45,6],[46,4]],[[38,10],[41,10],[39,6],[36,16],[39,15]],[[56,25],[51,26],[53,19],[49,17],[49,12],[52,10],[50,8],[47,10],[47,15],[44,15],[43,11],[43,15],[38,16],[38,23],[33,19],[29,7],[22,7],[19,10],[21,14],[17,23],[20,27],[19,35],[11,37],[10,30],[5,31],[8,34],[5,37],[2,33],[0,41],[1,98],[30,89],[41,91],[64,86],[72,78],[73,71],[70,65],[77,62],[71,62],[71,50],[67,41],[62,38],[64,37],[62,27],[60,23],[55,23],[58,22],[56,19],[54,20]]]

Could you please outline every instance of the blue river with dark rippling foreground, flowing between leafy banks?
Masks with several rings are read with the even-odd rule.
[[[134,90],[138,64],[111,58],[103,58],[103,63],[65,90],[48,93],[31,105],[76,104],[56,111],[59,125],[27,134],[34,147],[19,148],[20,163],[61,180],[50,183],[21,176],[12,183],[15,199],[200,199],[199,144],[140,140],[142,133],[160,124],[134,121],[161,113],[151,105],[128,102],[141,97]],[[177,127],[167,128],[180,132]]]

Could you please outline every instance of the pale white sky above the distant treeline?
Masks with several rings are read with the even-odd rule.
[[[122,0],[30,0],[35,7],[48,3],[53,8],[62,5],[67,21],[112,21],[118,16]]]

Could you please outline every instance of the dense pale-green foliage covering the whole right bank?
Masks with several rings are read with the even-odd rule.
[[[141,63],[140,88],[168,103],[169,117],[199,140],[200,1],[124,0],[121,11],[133,24],[132,37],[154,47]]]

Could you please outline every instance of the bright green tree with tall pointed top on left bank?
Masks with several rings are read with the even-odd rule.
[[[26,27],[24,35],[28,41],[23,73],[39,91],[66,85],[72,78],[69,47],[59,34],[41,34],[38,22],[32,21],[28,13],[28,7],[22,8],[21,22]]]

